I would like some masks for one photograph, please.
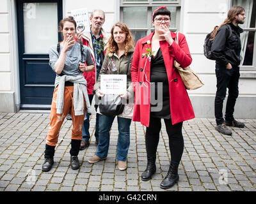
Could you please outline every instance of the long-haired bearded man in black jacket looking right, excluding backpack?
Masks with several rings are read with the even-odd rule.
[[[227,126],[244,128],[243,122],[234,119],[234,106],[238,97],[238,81],[240,77],[239,65],[241,62],[240,34],[243,29],[238,24],[244,24],[244,8],[234,6],[228,11],[228,16],[220,27],[211,33],[211,55],[216,60],[217,91],[214,103],[216,130],[223,135],[232,135]],[[230,29],[232,33],[230,33]],[[223,101],[228,88],[228,99],[223,119]]]

